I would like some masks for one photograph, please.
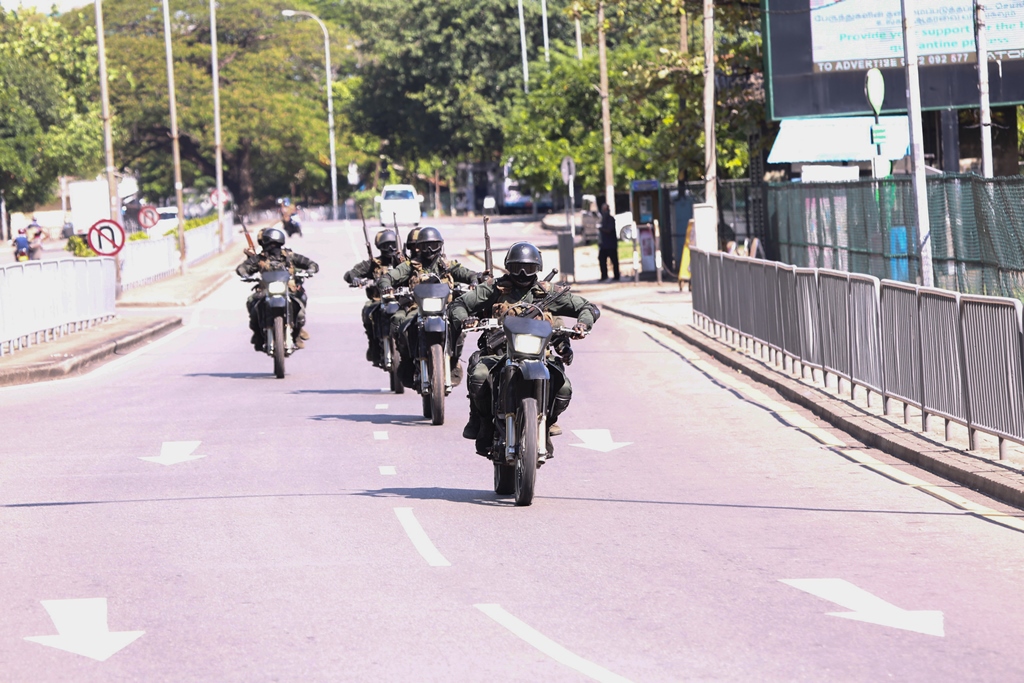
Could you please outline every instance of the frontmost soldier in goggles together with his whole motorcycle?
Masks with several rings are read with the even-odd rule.
[[[451,306],[456,325],[487,331],[470,357],[463,437],[494,461],[495,492],[514,492],[517,505],[529,505],[537,468],[553,457],[550,437],[562,433],[558,418],[572,396],[569,340],[585,337],[600,311],[567,287],[539,282],[541,252],[529,243],[512,245],[505,269]],[[563,327],[561,315],[577,324]]]

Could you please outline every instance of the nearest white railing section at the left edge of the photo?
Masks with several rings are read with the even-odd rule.
[[[0,355],[114,316],[113,258],[67,258],[0,267]]]

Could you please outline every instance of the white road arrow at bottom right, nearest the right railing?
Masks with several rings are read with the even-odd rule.
[[[780,579],[779,581],[852,610],[849,612],[827,612],[828,616],[842,616],[857,622],[923,633],[927,636],[940,638],[945,636],[941,611],[902,609],[842,579]]]

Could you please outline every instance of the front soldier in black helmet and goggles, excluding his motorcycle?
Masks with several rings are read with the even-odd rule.
[[[557,326],[555,316],[566,315],[577,318],[574,330],[586,332],[593,327],[601,312],[590,301],[561,290],[557,285],[540,282],[538,273],[541,270],[541,252],[528,242],[518,242],[509,249],[505,256],[507,274],[477,286],[472,292],[467,292],[452,303],[453,322],[462,326],[469,317],[503,318],[505,315],[524,315],[542,317],[552,326]],[[554,295],[554,296],[551,296]],[[543,311],[536,306],[546,301]],[[481,343],[483,338],[481,337]],[[559,358],[548,360],[551,368],[551,399],[549,436],[562,433],[558,426],[558,416],[565,412],[572,398],[572,386],[565,376],[565,365],[572,361],[572,351],[568,340],[562,340],[553,347]],[[469,390],[469,422],[463,430],[464,438],[476,439],[476,452],[486,456],[494,440],[494,422],[488,378],[490,370],[501,361],[505,354],[501,348],[481,347],[479,355],[470,357],[468,373]],[[551,453],[548,449],[548,453]]]

